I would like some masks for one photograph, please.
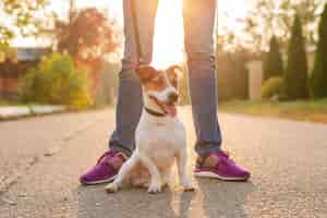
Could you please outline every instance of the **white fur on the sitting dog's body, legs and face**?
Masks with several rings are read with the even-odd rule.
[[[164,92],[157,93],[165,100],[170,92],[177,92],[171,85]],[[144,92],[144,105],[155,111],[160,108],[149,98],[150,93]],[[153,93],[152,93],[153,94]],[[149,173],[149,193],[161,192],[170,180],[171,168],[177,160],[180,182],[184,190],[192,191],[193,185],[186,173],[187,149],[186,132],[183,123],[178,118],[154,117],[143,110],[135,132],[136,148],[130,159],[121,167],[117,179],[106,186],[108,192],[117,192],[122,182],[130,179],[131,172],[142,164]],[[138,178],[140,179],[140,178]],[[133,182],[132,182],[133,183]]]

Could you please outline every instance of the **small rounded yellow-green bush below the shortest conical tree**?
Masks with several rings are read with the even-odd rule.
[[[280,96],[282,90],[282,77],[274,76],[267,80],[262,88],[263,98],[271,98],[274,96]]]

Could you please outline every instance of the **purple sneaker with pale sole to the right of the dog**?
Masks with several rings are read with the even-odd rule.
[[[195,177],[216,178],[225,181],[246,181],[250,172],[229,158],[223,152],[209,155],[206,159],[198,158],[194,170]]]

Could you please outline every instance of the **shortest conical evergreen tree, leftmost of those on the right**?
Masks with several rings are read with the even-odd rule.
[[[270,39],[270,48],[264,61],[264,81],[283,74],[282,57],[276,36]]]

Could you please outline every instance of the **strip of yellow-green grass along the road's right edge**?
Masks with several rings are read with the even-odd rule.
[[[327,123],[327,98],[283,102],[233,100],[222,102],[219,108],[225,112]]]

